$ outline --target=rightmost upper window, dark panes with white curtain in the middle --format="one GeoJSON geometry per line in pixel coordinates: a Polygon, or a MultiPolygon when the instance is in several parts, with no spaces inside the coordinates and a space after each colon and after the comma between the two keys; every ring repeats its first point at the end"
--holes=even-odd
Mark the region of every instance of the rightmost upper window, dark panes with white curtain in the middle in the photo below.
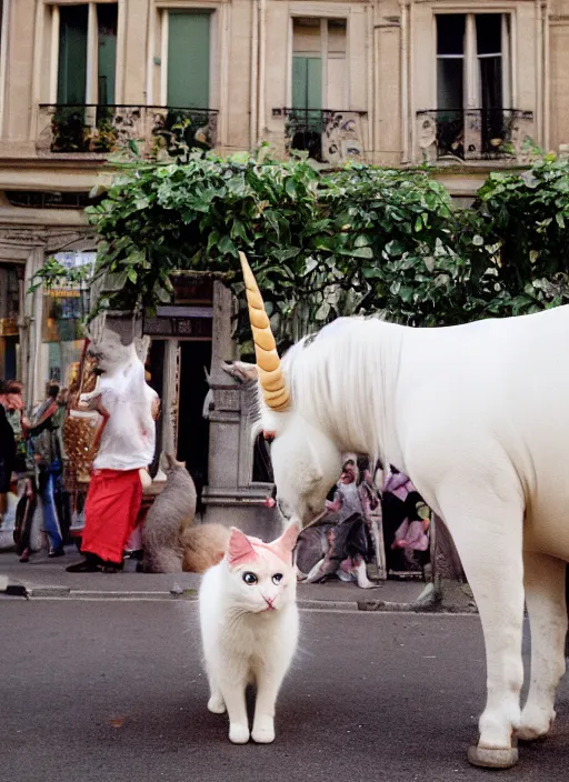
{"type": "Polygon", "coordinates": [[[438,147],[458,157],[498,151],[508,136],[510,16],[437,14],[438,147]]]}

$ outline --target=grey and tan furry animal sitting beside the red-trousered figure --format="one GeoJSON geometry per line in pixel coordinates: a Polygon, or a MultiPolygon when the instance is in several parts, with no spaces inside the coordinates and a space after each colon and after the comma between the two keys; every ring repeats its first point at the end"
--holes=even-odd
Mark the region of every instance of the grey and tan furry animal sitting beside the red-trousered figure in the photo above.
{"type": "Polygon", "coordinates": [[[166,487],[156,498],[142,528],[144,561],[152,573],[203,573],[227,551],[229,530],[222,524],[193,525],[196,487],[183,462],[164,454],[166,487]]]}

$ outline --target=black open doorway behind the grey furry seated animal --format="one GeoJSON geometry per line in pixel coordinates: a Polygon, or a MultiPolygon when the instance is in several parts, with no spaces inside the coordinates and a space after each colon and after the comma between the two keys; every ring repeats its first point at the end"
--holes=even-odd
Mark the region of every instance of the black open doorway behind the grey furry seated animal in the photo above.
{"type": "Polygon", "coordinates": [[[180,342],[177,458],[193,478],[198,502],[208,482],[209,421],[203,402],[209,391],[204,368],[210,367],[210,340],[180,342]]]}

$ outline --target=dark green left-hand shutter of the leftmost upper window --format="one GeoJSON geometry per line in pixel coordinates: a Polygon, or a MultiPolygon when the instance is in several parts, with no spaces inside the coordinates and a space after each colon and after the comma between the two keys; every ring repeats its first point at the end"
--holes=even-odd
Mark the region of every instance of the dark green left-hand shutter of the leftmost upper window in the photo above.
{"type": "Polygon", "coordinates": [[[83,104],[87,88],[87,24],[89,8],[61,6],[59,28],[58,103],[83,104]]]}

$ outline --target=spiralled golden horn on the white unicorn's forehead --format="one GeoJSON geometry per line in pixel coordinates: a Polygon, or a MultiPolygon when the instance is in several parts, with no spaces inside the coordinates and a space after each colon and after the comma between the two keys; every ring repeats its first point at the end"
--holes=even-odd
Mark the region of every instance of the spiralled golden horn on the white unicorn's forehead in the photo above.
{"type": "Polygon", "coordinates": [[[269,317],[264,311],[259,287],[243,252],[239,253],[239,260],[243,270],[249,320],[253,332],[254,355],[262,394],[267,407],[277,412],[282,412],[289,407],[290,392],[282,374],[277,343],[272,335],[269,317]]]}

